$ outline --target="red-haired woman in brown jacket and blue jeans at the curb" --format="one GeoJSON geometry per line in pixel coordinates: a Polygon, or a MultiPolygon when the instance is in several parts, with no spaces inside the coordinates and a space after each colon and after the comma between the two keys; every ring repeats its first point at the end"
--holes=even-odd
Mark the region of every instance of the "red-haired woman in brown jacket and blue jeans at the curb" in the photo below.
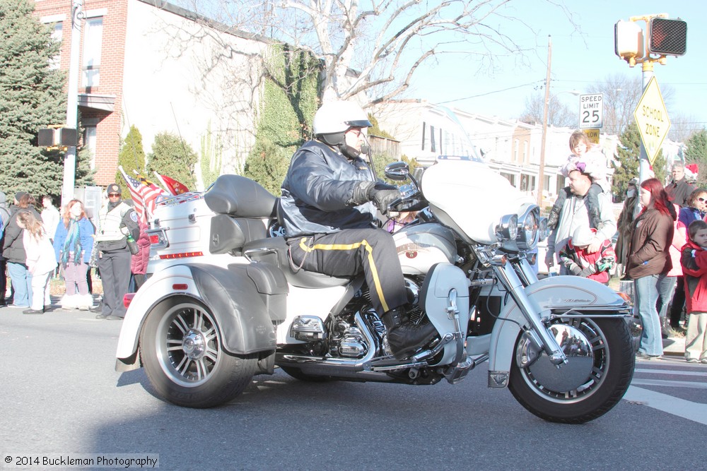
{"type": "Polygon", "coordinates": [[[677,213],[658,179],[643,181],[639,198],[643,210],[631,228],[626,273],[633,278],[638,316],[643,324],[636,357],[652,359],[662,355],[660,319],[655,304],[660,284],[672,268],[669,250],[677,213]]]}

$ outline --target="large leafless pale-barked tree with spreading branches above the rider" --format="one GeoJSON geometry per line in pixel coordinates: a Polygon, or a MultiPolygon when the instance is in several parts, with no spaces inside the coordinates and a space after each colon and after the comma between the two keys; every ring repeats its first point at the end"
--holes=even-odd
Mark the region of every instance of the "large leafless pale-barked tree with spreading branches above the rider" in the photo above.
{"type": "MultiPolygon", "coordinates": [[[[388,100],[409,88],[421,64],[444,54],[492,65],[498,56],[523,57],[533,49],[520,47],[506,33],[532,32],[513,16],[512,0],[183,0],[182,4],[189,2],[189,8],[223,24],[320,57],[325,100],[363,92],[368,105],[388,100]],[[506,23],[503,30],[501,23],[506,23]]],[[[561,1],[547,3],[561,8],[571,20],[561,1]]]]}

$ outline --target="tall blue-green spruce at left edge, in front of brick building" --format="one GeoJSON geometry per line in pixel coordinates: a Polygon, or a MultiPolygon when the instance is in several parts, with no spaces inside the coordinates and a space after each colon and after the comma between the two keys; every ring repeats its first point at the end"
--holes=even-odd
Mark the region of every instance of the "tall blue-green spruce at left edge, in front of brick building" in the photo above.
{"type": "Polygon", "coordinates": [[[49,68],[59,52],[27,0],[0,0],[0,174],[2,190],[33,196],[62,192],[62,153],[37,147],[37,131],[66,120],[64,74],[49,68]]]}

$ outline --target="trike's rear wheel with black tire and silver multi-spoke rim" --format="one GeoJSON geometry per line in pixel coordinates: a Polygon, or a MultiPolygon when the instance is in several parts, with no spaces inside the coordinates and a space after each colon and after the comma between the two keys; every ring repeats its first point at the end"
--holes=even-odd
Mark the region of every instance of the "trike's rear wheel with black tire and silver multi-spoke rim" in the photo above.
{"type": "Polygon", "coordinates": [[[140,356],[158,395],[183,407],[227,403],[247,388],[257,366],[257,354],[223,350],[216,317],[188,297],[167,299],[148,314],[140,356]]]}

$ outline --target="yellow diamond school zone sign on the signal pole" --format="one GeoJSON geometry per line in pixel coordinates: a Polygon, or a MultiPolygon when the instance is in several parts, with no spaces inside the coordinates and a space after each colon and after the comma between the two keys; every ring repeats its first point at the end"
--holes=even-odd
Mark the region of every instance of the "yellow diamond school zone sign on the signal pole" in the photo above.
{"type": "Polygon", "coordinates": [[[638,132],[641,133],[648,162],[653,165],[660,151],[660,145],[670,129],[670,119],[667,117],[667,109],[655,77],[650,78],[648,86],[643,90],[641,100],[638,101],[636,111],[633,112],[633,118],[638,124],[638,132]]]}

